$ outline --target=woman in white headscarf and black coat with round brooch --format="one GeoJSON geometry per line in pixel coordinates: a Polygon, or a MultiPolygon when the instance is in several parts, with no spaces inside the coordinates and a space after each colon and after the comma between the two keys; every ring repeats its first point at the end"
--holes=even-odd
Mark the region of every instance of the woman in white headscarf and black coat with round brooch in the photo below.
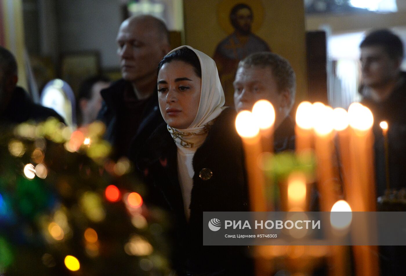
{"type": "Polygon", "coordinates": [[[203,211],[248,211],[236,114],[223,106],[215,62],[190,46],[172,50],[158,66],[158,100],[166,124],[139,163],[150,199],[174,216],[177,273],[251,275],[244,248],[203,246],[203,211]]]}

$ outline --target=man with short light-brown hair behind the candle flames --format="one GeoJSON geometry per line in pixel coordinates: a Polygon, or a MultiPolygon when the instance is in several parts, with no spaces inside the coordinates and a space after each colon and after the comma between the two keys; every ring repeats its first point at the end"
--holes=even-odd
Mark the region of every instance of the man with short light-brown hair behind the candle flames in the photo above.
{"type": "Polygon", "coordinates": [[[238,64],[233,85],[237,112],[251,111],[261,99],[272,103],[274,151],[294,150],[295,124],[289,113],[295,101],[296,75],[289,62],[271,52],[251,54],[238,64]]]}

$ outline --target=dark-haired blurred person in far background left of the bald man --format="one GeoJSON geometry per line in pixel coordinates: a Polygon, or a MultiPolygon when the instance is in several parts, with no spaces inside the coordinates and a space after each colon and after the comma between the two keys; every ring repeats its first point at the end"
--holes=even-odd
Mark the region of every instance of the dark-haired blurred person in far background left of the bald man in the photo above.
{"type": "Polygon", "coordinates": [[[87,78],[80,85],[78,107],[82,117],[81,125],[87,125],[96,120],[103,101],[100,91],[109,86],[110,80],[104,76],[87,78]]]}

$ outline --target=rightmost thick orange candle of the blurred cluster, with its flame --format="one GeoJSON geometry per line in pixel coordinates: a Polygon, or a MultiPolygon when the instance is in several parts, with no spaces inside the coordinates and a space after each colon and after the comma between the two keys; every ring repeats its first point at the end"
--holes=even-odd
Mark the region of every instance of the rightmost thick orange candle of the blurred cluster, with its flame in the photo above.
{"type": "MultiPolygon", "coordinates": [[[[346,196],[353,211],[376,211],[376,194],[373,164],[371,111],[360,103],[352,103],[348,108],[350,123],[350,185],[346,196]]],[[[358,229],[365,235],[376,238],[376,229],[358,229]]],[[[354,235],[354,234],[353,234],[354,235]]],[[[355,272],[357,276],[379,274],[378,248],[376,246],[353,246],[355,272]]]]}

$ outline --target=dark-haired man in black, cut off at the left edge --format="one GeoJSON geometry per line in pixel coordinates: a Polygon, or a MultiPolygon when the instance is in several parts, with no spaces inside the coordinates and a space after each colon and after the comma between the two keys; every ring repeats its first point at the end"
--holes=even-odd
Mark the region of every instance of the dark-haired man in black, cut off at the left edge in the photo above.
{"type": "Polygon", "coordinates": [[[28,120],[41,122],[55,117],[64,122],[53,109],[35,104],[22,87],[17,86],[17,62],[13,54],[0,46],[0,122],[19,124],[28,120]]]}

